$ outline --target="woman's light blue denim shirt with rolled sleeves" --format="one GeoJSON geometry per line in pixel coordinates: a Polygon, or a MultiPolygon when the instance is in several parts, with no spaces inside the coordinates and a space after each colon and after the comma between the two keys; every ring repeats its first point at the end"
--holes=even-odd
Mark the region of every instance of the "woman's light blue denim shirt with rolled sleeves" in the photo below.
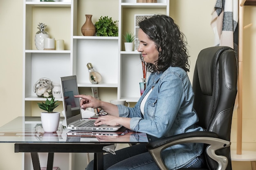
{"type": "MultiPolygon", "coordinates": [[[[198,116],[193,109],[194,93],[187,73],[180,67],[169,67],[160,73],[151,73],[148,85],[134,108],[117,105],[120,117],[130,117],[130,128],[156,138],[202,131],[196,126],[198,116]],[[140,104],[153,88],[141,114],[140,104]]],[[[198,157],[203,144],[178,144],[166,148],[162,157],[169,169],[182,168],[198,157]]]]}

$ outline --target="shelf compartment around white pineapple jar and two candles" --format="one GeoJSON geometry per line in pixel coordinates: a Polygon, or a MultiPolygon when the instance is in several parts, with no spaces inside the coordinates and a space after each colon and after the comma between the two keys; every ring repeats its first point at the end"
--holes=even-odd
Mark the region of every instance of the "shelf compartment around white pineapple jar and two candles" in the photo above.
{"type": "Polygon", "coordinates": [[[71,13],[71,7],[66,7],[66,6],[42,7],[42,6],[26,5],[26,18],[25,18],[25,28],[24,28],[25,50],[38,51],[35,46],[34,38],[36,33],[39,31],[39,29],[37,29],[38,23],[43,22],[47,25],[45,31],[49,33],[50,38],[55,38],[55,40],[64,40],[65,42],[64,51],[70,51],[71,49],[70,31],[72,29],[72,26],[70,25],[63,26],[62,24],[58,24],[58,23],[65,23],[66,20],[70,20],[71,18],[70,13],[71,13]],[[44,13],[44,15],[41,15],[42,13],[44,13]],[[56,22],[56,20],[49,20],[49,18],[56,18],[58,22],[56,22]]]}

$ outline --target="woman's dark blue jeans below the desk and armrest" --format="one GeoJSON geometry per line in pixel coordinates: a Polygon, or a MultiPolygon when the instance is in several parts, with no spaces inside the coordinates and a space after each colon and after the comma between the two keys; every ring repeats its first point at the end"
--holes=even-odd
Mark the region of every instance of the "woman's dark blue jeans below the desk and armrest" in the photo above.
{"type": "MultiPolygon", "coordinates": [[[[104,170],[159,170],[157,164],[146,149],[146,144],[138,144],[115,151],[116,155],[108,153],[103,156],[104,170]]],[[[203,160],[195,158],[183,168],[201,168],[203,160]]],[[[91,161],[86,170],[93,170],[91,161]]]]}

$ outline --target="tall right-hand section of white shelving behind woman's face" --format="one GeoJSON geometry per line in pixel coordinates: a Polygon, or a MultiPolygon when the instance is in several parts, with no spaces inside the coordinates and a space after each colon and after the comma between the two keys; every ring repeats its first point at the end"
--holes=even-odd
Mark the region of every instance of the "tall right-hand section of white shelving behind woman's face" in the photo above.
{"type": "MultiPolygon", "coordinates": [[[[139,52],[124,51],[123,35],[126,31],[135,29],[134,16],[138,14],[165,14],[169,15],[169,0],[157,0],[157,3],[136,3],[136,0],[119,0],[119,41],[118,41],[118,99],[126,99],[127,102],[137,102],[139,82],[143,78],[139,52]],[[132,19],[132,24],[128,21],[132,19]],[[120,29],[121,28],[121,29],[120,29]]],[[[149,74],[148,74],[149,75],[149,74]]]]}

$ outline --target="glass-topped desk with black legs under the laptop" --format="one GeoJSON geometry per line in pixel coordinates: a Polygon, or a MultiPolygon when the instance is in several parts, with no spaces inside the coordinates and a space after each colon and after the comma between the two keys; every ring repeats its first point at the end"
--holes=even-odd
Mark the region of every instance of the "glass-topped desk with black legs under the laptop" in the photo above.
{"type": "Polygon", "coordinates": [[[74,134],[60,124],[55,133],[46,133],[40,117],[17,117],[0,127],[0,142],[15,143],[15,152],[30,152],[34,170],[40,170],[38,152],[47,152],[47,170],[52,170],[54,152],[94,153],[94,170],[103,169],[103,153],[114,152],[114,144],[148,143],[145,133],[121,128],[116,132],[74,134]]]}

